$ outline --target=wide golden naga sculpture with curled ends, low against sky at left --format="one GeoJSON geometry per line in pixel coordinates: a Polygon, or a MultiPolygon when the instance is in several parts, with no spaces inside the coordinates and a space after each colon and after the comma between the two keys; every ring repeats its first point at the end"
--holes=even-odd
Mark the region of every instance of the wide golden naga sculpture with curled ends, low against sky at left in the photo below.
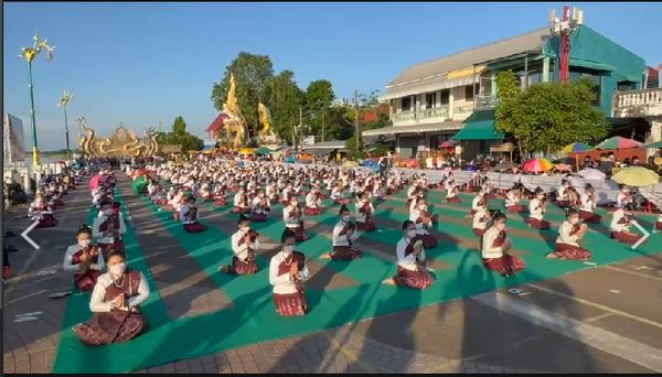
{"type": "Polygon", "coordinates": [[[94,129],[83,126],[87,136],[81,138],[81,149],[87,155],[108,157],[150,157],[159,150],[157,132],[149,128],[142,138],[119,126],[109,138],[98,138],[94,129]]]}

